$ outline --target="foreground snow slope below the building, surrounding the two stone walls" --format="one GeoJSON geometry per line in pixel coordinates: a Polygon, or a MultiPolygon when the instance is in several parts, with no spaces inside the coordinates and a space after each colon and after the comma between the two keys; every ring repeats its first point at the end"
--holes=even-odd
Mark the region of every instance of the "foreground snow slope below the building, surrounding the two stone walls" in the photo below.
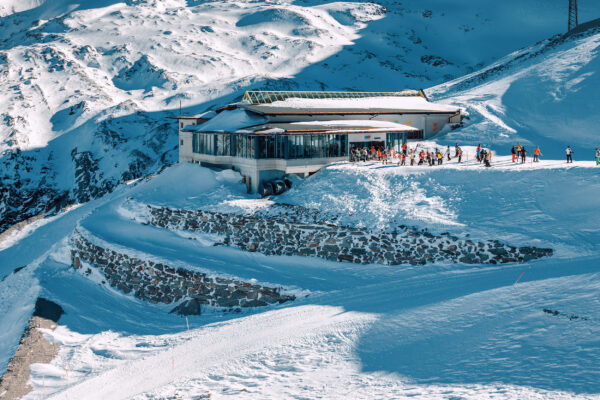
{"type": "Polygon", "coordinates": [[[13,327],[3,360],[38,295],[66,312],[46,333],[59,355],[32,366],[26,399],[598,398],[600,178],[592,163],[340,163],[271,200],[246,195],[238,178],[176,165],[11,238],[2,265],[28,267],[0,283],[1,323],[13,327]],[[419,267],[264,256],[139,224],[122,207],[128,200],[227,211],[277,201],[345,210],[346,224],[402,221],[555,255],[419,267]],[[60,238],[76,227],[131,253],[276,282],[300,296],[186,321],[72,269],[60,238]]]}

